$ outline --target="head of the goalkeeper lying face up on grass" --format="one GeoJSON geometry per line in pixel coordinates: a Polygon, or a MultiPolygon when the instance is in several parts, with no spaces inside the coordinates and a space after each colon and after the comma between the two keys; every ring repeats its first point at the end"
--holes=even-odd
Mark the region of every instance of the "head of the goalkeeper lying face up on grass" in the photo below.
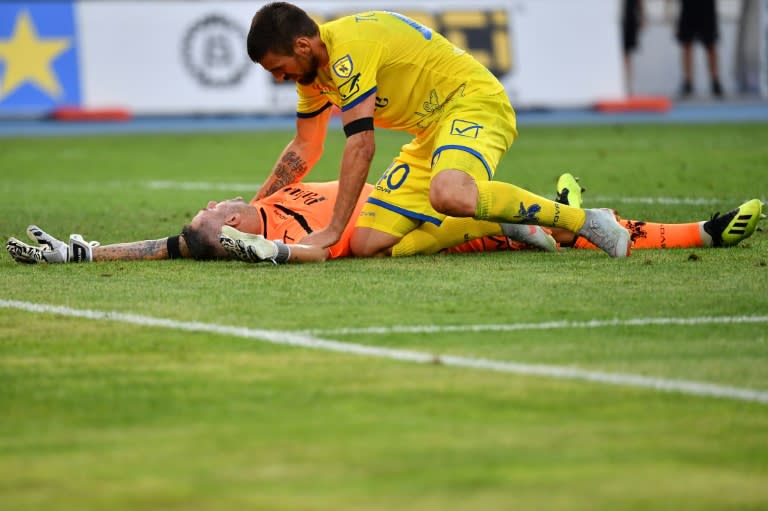
{"type": "Polygon", "coordinates": [[[256,208],[245,202],[242,197],[220,202],[210,201],[181,231],[192,258],[229,259],[219,242],[219,233],[225,225],[252,234],[261,234],[261,221],[256,208]]]}

